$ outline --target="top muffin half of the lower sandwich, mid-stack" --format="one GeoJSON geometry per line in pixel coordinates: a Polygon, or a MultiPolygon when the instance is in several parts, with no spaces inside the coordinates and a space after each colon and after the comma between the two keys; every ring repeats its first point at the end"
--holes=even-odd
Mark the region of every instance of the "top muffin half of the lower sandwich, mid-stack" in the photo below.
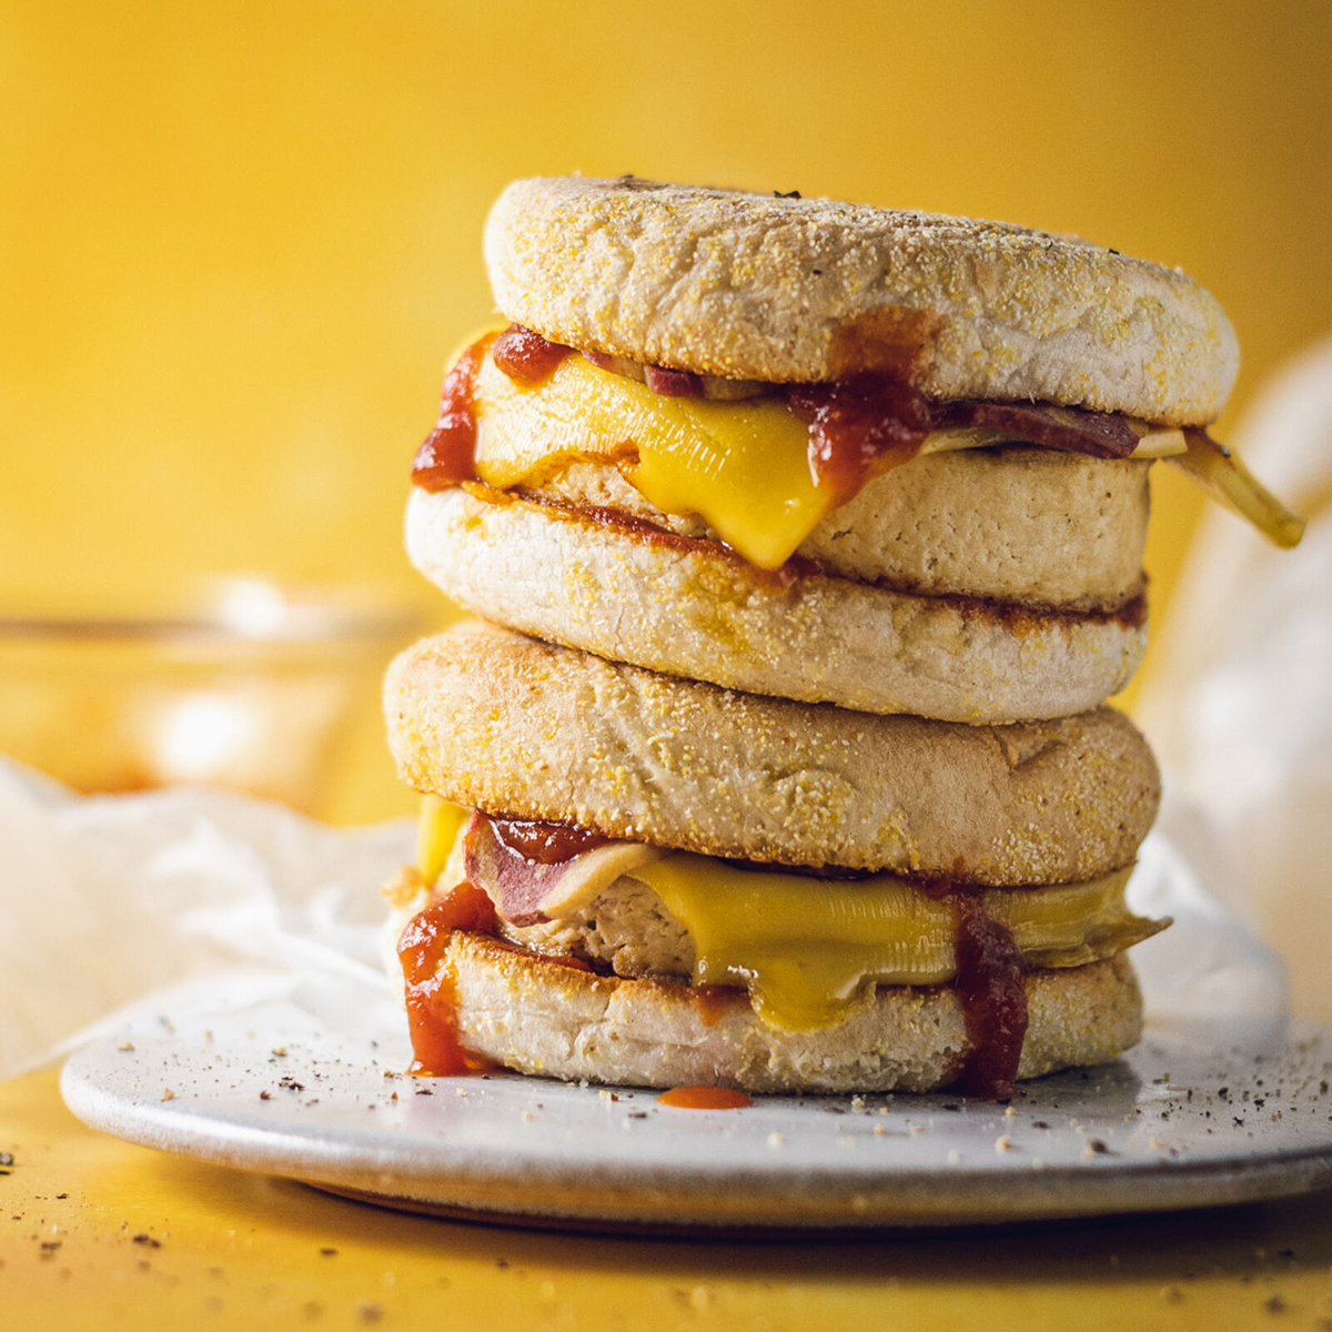
{"type": "Polygon", "coordinates": [[[404,781],[492,814],[755,862],[1070,883],[1128,864],[1155,762],[1110,709],[964,726],[675,679],[489,626],[385,681],[404,781]]]}

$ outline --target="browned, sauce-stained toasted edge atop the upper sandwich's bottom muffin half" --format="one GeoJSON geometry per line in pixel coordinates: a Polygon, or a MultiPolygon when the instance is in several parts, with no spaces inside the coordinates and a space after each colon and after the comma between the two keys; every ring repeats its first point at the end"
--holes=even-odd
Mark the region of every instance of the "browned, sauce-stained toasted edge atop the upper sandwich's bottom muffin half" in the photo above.
{"type": "Polygon", "coordinates": [[[1114,609],[1070,610],[1066,606],[1050,606],[1040,602],[998,601],[991,597],[972,597],[966,593],[924,593],[903,586],[887,578],[863,579],[847,578],[844,574],[830,573],[818,561],[807,555],[793,555],[779,569],[759,569],[743,555],[733,550],[725,541],[707,537],[686,537],[683,533],[659,527],[641,514],[627,513],[605,505],[585,505],[575,501],[557,501],[547,494],[534,494],[525,489],[497,490],[481,481],[465,481],[462,489],[480,503],[537,505],[551,518],[565,522],[587,522],[598,527],[609,527],[623,535],[685,554],[721,557],[735,567],[745,569],[755,582],[771,589],[787,589],[803,578],[830,578],[852,582],[862,587],[876,587],[882,591],[898,593],[906,597],[919,597],[936,606],[950,606],[963,619],[980,619],[1002,625],[1014,637],[1023,638],[1040,633],[1052,623],[1058,625],[1119,625],[1122,629],[1142,629],[1147,623],[1147,594],[1138,591],[1128,601],[1114,609]]]}

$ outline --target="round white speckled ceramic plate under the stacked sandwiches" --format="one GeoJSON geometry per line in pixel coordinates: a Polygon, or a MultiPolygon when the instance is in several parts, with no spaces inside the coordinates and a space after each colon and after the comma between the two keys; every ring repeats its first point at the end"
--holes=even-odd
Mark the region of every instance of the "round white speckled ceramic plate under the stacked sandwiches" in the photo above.
{"type": "Polygon", "coordinates": [[[416,1079],[401,1035],[290,1003],[104,1039],[64,1096],[131,1142],[396,1207],[583,1228],[938,1227],[1148,1212],[1332,1187],[1332,1034],[1265,1050],[1151,1032],[1128,1058],[955,1096],[674,1110],[643,1090],[416,1079]]]}

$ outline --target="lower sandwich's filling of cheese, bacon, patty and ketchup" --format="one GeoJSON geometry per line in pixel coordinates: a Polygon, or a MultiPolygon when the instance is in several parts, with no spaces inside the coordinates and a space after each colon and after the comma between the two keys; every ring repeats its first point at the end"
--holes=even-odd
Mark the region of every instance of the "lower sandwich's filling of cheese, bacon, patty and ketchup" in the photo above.
{"type": "MultiPolygon", "coordinates": [[[[984,1052],[972,1090],[994,1094],[1020,1058],[1030,970],[1100,962],[1164,927],[1127,908],[1128,874],[1016,890],[775,874],[429,801],[396,904],[400,920],[462,906],[473,932],[601,974],[743,991],[777,1031],[844,1023],[880,986],[952,986],[984,1052]]],[[[433,1048],[428,1018],[417,1027],[433,1048]]]]}

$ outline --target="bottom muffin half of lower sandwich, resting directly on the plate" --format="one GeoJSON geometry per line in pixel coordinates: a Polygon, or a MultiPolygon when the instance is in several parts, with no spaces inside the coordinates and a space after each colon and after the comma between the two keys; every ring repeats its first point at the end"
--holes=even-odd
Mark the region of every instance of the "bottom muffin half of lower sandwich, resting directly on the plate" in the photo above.
{"type": "MultiPolygon", "coordinates": [[[[947,987],[883,986],[835,1027],[765,1026],[743,991],[706,998],[673,980],[574,970],[457,931],[457,1035],[472,1052],[526,1074],[638,1087],[710,1083],[753,1092],[938,1091],[962,1074],[970,1039],[947,987]]],[[[1138,982],[1120,955],[1027,976],[1019,1078],[1116,1059],[1142,1034],[1138,982]]]]}

